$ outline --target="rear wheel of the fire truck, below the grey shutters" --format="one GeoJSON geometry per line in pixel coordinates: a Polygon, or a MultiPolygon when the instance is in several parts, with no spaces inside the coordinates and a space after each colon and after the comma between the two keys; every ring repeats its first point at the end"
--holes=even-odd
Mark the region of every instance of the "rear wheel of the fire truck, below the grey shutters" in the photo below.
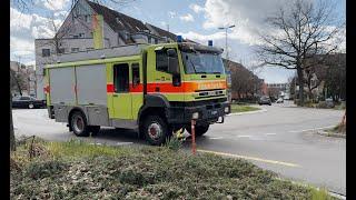
{"type": "Polygon", "coordinates": [[[91,131],[86,117],[80,111],[75,111],[71,114],[69,124],[77,137],[88,137],[91,131]]]}

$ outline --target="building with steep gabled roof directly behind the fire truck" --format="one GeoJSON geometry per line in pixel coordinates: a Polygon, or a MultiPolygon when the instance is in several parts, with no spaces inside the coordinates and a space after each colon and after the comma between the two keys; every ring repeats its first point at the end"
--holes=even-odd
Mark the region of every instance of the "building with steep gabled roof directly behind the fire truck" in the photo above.
{"type": "Polygon", "coordinates": [[[36,39],[37,96],[44,99],[43,66],[53,54],[93,49],[92,16],[102,16],[103,48],[129,43],[164,43],[177,36],[88,0],[78,0],[52,39],[36,39]]]}

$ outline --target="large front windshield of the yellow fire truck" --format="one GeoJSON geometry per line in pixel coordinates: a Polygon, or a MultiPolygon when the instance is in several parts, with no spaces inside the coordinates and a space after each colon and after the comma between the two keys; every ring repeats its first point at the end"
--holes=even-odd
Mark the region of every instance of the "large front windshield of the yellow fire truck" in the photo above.
{"type": "Polygon", "coordinates": [[[181,52],[186,73],[225,73],[220,54],[181,52]]]}

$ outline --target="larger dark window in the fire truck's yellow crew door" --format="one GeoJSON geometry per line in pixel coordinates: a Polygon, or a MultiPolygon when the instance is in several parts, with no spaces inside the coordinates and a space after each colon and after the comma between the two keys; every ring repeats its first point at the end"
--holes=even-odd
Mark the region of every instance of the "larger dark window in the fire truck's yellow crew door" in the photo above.
{"type": "Polygon", "coordinates": [[[116,93],[129,91],[129,64],[113,66],[113,86],[116,93]]]}

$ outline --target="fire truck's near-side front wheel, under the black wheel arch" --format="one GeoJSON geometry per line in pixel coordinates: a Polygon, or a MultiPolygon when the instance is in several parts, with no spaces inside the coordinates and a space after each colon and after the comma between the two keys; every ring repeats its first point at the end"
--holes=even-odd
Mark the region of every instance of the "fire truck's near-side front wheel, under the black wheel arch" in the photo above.
{"type": "Polygon", "coordinates": [[[167,122],[159,116],[147,116],[140,130],[146,141],[152,146],[165,143],[170,134],[167,122]]]}

